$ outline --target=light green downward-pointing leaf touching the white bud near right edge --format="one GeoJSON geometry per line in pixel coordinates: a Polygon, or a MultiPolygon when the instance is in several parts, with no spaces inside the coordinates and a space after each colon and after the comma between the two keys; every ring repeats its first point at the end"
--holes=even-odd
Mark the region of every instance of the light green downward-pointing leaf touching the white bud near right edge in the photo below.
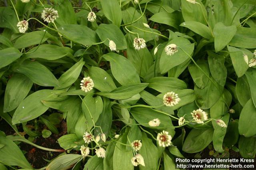
{"type": "Polygon", "coordinates": [[[249,67],[244,61],[244,53],[235,47],[228,47],[228,51],[230,52],[230,58],[236,71],[236,75],[241,77],[249,67]]]}

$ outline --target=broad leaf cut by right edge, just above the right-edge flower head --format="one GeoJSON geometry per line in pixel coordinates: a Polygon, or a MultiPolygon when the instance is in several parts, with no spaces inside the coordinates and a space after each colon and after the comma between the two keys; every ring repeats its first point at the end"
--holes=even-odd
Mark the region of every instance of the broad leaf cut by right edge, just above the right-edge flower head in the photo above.
{"type": "Polygon", "coordinates": [[[230,41],[229,45],[234,47],[255,49],[256,44],[256,30],[255,28],[237,27],[236,34],[230,41]]]}

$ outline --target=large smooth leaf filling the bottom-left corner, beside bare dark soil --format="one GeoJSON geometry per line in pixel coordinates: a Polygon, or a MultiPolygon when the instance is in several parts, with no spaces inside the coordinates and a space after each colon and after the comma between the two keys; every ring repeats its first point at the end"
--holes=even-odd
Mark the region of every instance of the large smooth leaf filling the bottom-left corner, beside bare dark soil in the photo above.
{"type": "Polygon", "coordinates": [[[0,143],[4,145],[0,149],[0,160],[9,166],[20,166],[22,168],[32,168],[28,163],[20,148],[10,139],[0,136],[0,143]]]}

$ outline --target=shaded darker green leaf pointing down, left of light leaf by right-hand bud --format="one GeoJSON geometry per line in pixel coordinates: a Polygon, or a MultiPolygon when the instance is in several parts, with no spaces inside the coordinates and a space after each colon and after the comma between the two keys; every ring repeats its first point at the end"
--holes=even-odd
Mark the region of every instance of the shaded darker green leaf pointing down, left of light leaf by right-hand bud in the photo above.
{"type": "Polygon", "coordinates": [[[224,65],[225,58],[211,51],[208,51],[207,53],[212,77],[218,84],[220,84],[220,86],[224,86],[226,84],[227,77],[227,68],[224,65]]]}

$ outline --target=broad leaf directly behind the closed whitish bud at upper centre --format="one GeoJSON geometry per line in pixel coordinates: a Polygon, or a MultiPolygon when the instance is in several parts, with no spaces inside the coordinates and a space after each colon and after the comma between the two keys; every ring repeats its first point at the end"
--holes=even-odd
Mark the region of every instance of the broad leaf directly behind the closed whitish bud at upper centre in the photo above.
{"type": "Polygon", "coordinates": [[[112,40],[116,44],[116,49],[122,50],[127,48],[126,39],[122,31],[114,24],[100,24],[96,29],[96,33],[101,41],[109,47],[109,41],[112,40]]]}

